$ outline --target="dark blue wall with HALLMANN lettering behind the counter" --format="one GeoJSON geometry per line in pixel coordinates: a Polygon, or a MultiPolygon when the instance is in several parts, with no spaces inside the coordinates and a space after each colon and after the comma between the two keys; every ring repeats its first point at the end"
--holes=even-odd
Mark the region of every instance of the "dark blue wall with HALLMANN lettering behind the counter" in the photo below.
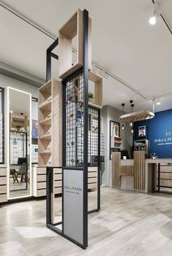
{"type": "Polygon", "coordinates": [[[156,112],[155,117],[134,123],[134,140],[138,137],[138,127],[146,126],[149,139],[149,152],[155,152],[158,158],[172,158],[172,109],[156,112]]]}

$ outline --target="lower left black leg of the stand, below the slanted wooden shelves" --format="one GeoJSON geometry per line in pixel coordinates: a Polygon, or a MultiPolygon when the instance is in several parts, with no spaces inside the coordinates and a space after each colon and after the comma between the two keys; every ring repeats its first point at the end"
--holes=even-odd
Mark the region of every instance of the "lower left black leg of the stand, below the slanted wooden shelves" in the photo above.
{"type": "Polygon", "coordinates": [[[51,224],[52,168],[47,167],[47,225],[51,224]]]}

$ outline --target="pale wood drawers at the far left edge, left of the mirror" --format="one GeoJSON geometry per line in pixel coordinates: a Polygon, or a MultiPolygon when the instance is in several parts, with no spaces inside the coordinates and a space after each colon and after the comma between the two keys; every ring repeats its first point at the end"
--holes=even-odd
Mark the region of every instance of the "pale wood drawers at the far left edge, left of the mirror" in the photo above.
{"type": "Polygon", "coordinates": [[[0,203],[7,202],[7,168],[0,166],[0,203]]]}

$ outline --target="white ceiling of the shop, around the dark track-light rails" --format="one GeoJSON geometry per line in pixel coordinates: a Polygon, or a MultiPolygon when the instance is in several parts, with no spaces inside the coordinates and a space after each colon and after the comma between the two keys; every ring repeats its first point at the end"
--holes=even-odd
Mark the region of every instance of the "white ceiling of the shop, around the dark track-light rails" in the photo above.
{"type": "MultiPolygon", "coordinates": [[[[4,0],[51,34],[77,8],[87,9],[93,20],[93,61],[116,74],[146,98],[172,93],[172,35],[160,18],[149,25],[152,0],[4,0]]],[[[159,1],[172,26],[172,1],[159,1]]],[[[6,9],[0,7],[1,61],[45,78],[46,49],[53,42],[6,9]]],[[[53,61],[52,77],[58,77],[53,61]]],[[[172,96],[172,95],[171,95],[172,96]]],[[[171,96],[162,99],[156,110],[172,108],[171,96]]],[[[103,79],[103,105],[120,107],[122,102],[135,101],[135,109],[152,110],[152,101],[133,93],[115,79],[103,79]]],[[[129,110],[129,104],[128,109],[129,110]]]]}

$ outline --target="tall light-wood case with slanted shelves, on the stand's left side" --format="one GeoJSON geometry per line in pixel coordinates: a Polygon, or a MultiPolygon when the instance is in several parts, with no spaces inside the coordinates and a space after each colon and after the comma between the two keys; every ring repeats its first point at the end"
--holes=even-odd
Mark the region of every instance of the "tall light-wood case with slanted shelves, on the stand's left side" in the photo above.
{"type": "Polygon", "coordinates": [[[39,88],[39,166],[61,166],[62,85],[51,79],[39,88]]]}

